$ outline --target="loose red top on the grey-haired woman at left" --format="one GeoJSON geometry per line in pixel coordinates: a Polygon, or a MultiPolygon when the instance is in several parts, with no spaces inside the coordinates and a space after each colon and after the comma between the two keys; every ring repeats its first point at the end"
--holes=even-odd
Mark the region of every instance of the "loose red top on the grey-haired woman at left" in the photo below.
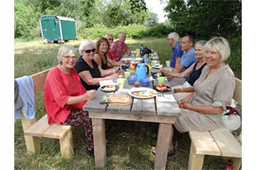
{"type": "Polygon", "coordinates": [[[71,109],[82,110],[87,100],[72,105],[65,103],[70,96],[78,96],[85,92],[80,76],[74,68],[71,69],[71,75],[65,74],[58,67],[51,69],[46,77],[44,92],[48,124],[64,123],[71,109]]]}

